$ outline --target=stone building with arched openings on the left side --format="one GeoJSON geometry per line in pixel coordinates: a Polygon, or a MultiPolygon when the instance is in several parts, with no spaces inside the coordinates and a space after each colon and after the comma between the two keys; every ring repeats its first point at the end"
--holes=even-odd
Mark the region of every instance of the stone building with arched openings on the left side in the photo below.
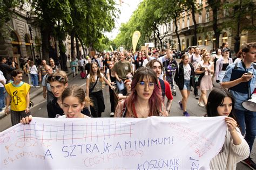
{"type": "Polygon", "coordinates": [[[5,23],[5,31],[0,37],[0,55],[13,59],[20,67],[21,56],[35,59],[38,55],[42,58],[41,31],[38,26],[33,25],[33,17],[27,16],[27,12],[31,11],[29,4],[23,5],[22,10],[13,10],[14,14],[11,20],[5,23]]]}

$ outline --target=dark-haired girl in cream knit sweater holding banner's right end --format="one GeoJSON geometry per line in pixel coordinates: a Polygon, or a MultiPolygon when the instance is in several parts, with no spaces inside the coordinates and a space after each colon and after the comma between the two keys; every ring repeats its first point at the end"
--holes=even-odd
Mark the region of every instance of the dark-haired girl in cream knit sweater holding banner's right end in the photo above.
{"type": "Polygon", "coordinates": [[[236,169],[237,163],[248,158],[250,148],[241,135],[241,131],[233,115],[234,98],[223,88],[213,89],[206,105],[208,117],[226,116],[227,132],[221,151],[211,160],[211,169],[236,169]]]}

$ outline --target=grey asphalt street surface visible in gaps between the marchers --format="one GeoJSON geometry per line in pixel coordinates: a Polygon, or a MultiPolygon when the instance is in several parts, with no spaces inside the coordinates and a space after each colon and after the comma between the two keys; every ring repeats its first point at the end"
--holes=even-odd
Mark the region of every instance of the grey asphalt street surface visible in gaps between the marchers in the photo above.
{"type": "MultiPolygon", "coordinates": [[[[81,86],[84,90],[86,88],[86,80],[85,79],[80,79],[80,76],[77,76],[75,78],[72,77],[72,75],[69,76],[69,86],[73,84],[77,84],[78,86],[81,86]]],[[[218,86],[215,84],[215,86],[218,86]]],[[[32,93],[35,93],[39,90],[42,90],[41,88],[33,88],[31,91],[32,93]],[[36,90],[36,91],[35,91],[36,90]]],[[[170,111],[169,116],[183,116],[183,111],[179,108],[178,101],[181,100],[181,94],[179,92],[178,87],[176,87],[176,92],[177,96],[173,96],[173,102],[172,102],[172,107],[170,111]]],[[[109,100],[109,88],[107,86],[104,87],[103,89],[103,95],[104,95],[104,101],[105,101],[105,112],[102,113],[102,117],[110,117],[110,100],[109,100]]],[[[35,117],[48,117],[47,114],[47,109],[46,109],[46,100],[43,98],[43,93],[39,94],[35,98],[32,99],[32,102],[34,103],[34,107],[31,108],[32,115],[35,117]]],[[[188,100],[188,105],[187,105],[187,111],[191,116],[204,116],[206,114],[206,109],[201,108],[197,104],[198,100],[194,98],[194,94],[191,91],[191,95],[188,100]]],[[[165,101],[166,104],[166,101],[165,101]]],[[[0,125],[0,131],[3,131],[5,129],[8,129],[11,127],[11,120],[10,120],[10,115],[0,119],[1,125],[0,125]]],[[[200,127],[198,127],[200,128],[200,127]]],[[[251,154],[251,157],[255,160],[256,159],[256,144],[254,142],[254,147],[253,151],[251,154]]],[[[237,169],[250,169],[247,166],[245,166],[242,163],[239,163],[237,166],[237,169]]]]}

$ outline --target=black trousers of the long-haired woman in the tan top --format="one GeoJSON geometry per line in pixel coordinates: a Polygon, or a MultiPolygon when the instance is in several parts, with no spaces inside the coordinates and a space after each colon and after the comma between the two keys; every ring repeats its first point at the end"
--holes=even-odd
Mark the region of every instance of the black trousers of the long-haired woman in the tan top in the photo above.
{"type": "Polygon", "coordinates": [[[105,111],[105,103],[102,90],[90,93],[89,97],[93,102],[93,107],[90,107],[91,115],[93,117],[102,117],[102,112],[105,111]]]}

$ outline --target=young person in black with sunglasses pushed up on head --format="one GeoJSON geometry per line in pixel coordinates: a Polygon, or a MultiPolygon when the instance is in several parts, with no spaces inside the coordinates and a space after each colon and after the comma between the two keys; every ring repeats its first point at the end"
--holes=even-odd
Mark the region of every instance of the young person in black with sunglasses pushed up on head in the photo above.
{"type": "MultiPolygon", "coordinates": [[[[64,115],[62,94],[69,85],[69,78],[65,72],[59,70],[48,76],[47,81],[50,83],[51,91],[54,95],[53,100],[47,104],[48,117],[55,118],[56,115],[62,116],[64,115]]],[[[87,108],[84,108],[82,113],[90,116],[87,108]]]]}

